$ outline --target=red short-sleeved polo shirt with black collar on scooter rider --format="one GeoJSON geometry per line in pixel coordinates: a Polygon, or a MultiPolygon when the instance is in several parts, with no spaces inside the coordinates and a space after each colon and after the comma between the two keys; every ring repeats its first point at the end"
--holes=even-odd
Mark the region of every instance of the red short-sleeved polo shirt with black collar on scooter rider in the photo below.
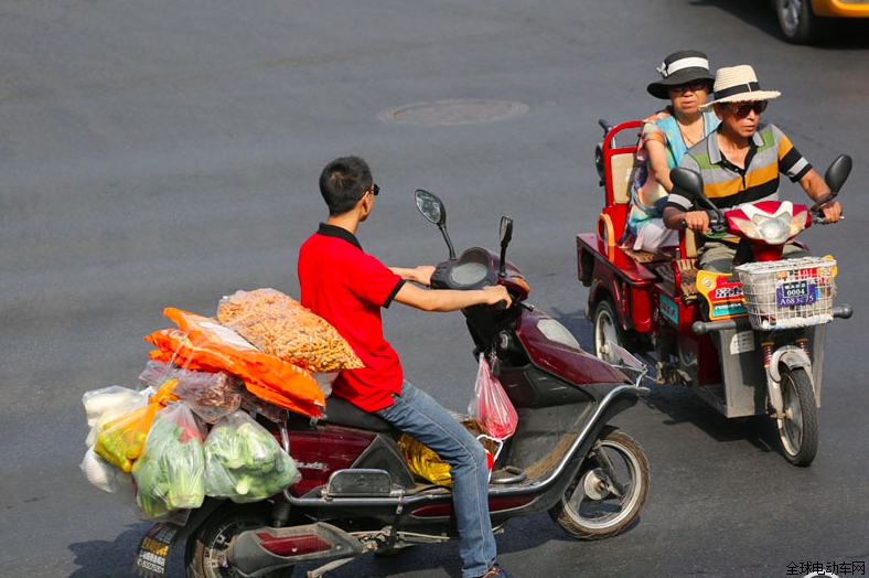
{"type": "Polygon", "coordinates": [[[341,372],[332,393],[366,411],[393,405],[393,394],[401,393],[404,372],[384,339],[380,308],[389,307],[404,282],[334,225],[321,224],[299,249],[301,303],[329,321],[365,364],[341,372]]]}

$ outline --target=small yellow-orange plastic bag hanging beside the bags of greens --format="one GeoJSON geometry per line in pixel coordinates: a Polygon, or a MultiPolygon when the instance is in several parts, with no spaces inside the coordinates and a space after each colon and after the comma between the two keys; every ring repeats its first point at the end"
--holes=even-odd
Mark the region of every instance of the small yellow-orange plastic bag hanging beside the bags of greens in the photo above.
{"type": "Polygon", "coordinates": [[[94,451],[129,473],[133,460],[142,452],[154,416],[169,402],[178,399],[178,396],[172,395],[175,383],[178,383],[175,379],[168,381],[151,396],[147,406],[133,409],[106,424],[97,436],[94,451]]]}

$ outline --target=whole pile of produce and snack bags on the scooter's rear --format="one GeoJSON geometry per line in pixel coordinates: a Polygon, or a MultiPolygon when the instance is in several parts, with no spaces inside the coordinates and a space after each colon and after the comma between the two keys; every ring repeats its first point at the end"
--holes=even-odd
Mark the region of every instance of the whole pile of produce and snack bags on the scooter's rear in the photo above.
{"type": "Polygon", "coordinates": [[[119,494],[135,488],[152,518],[199,507],[206,495],[255,502],[294,483],[292,458],[248,411],[320,417],[330,379],[362,367],[346,341],[273,289],[222,299],[216,319],[164,314],[178,328],[144,338],[157,347],[139,375],[144,389],[83,397],[88,481],[119,494]]]}

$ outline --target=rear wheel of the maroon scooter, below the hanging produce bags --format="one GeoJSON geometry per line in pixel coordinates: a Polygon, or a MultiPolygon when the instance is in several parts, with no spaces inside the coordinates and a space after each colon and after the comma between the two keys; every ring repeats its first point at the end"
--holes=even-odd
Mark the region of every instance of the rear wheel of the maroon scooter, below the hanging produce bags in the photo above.
{"type": "MultiPolygon", "coordinates": [[[[187,538],[184,548],[184,568],[187,578],[240,578],[227,567],[225,552],[233,536],[240,532],[271,525],[271,506],[267,503],[233,504],[214,513],[187,538]]],[[[292,567],[281,568],[262,578],[290,578],[292,567]]]]}

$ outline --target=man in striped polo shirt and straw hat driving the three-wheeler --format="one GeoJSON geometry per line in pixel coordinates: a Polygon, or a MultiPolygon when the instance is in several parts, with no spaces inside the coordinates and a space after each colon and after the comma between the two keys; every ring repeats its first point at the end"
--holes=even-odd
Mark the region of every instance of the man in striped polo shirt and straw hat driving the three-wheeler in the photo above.
{"type": "MultiPolygon", "coordinates": [[[[683,157],[680,167],[702,176],[704,193],[719,208],[779,199],[779,174],[798,182],[813,201],[829,193],[829,186],[774,125],[760,121],[761,114],[777,90],[761,90],[754,69],[748,65],[720,68],[716,73],[714,107],[721,124],[683,157]]],[[[677,188],[664,210],[664,224],[709,233],[709,215],[694,210],[694,199],[677,188]]],[[[829,222],[838,221],[838,201],[820,206],[829,222]]],[[[698,268],[731,272],[739,239],[705,236],[698,251],[698,268]]],[[[785,257],[798,256],[800,247],[788,243],[785,257]]]]}

